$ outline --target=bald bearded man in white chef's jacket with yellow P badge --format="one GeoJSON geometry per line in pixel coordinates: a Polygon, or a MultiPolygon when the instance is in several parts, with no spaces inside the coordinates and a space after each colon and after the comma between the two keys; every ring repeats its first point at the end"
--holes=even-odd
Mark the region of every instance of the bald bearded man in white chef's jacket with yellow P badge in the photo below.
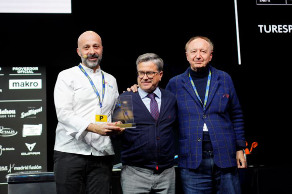
{"type": "Polygon", "coordinates": [[[82,63],[60,72],[54,89],[59,123],[54,146],[57,193],[109,193],[113,147],[110,135],[125,129],[111,123],[119,96],[115,78],[102,71],[102,43],[87,31],[78,38],[82,63]]]}

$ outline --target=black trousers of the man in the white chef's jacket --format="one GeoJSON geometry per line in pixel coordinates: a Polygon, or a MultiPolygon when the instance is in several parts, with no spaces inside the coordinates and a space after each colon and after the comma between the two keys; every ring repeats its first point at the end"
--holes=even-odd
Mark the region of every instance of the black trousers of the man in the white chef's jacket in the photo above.
{"type": "Polygon", "coordinates": [[[110,193],[113,155],[93,156],[54,151],[57,193],[110,193]]]}

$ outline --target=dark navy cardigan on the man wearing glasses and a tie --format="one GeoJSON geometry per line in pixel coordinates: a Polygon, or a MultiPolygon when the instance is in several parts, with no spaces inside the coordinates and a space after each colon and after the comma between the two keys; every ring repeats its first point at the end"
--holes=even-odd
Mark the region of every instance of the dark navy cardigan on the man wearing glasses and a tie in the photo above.
{"type": "MultiPolygon", "coordinates": [[[[173,166],[173,125],[176,121],[176,98],[161,89],[161,106],[157,123],[143,103],[139,92],[124,92],[133,100],[136,128],[126,129],[122,138],[122,163],[142,168],[160,170],[173,166]]],[[[114,138],[114,137],[113,137],[114,138]]]]}

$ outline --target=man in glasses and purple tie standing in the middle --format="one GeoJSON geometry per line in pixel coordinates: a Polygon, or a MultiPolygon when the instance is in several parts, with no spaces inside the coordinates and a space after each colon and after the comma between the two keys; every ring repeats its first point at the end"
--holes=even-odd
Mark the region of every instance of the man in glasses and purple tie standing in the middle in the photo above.
{"type": "Polygon", "coordinates": [[[122,135],[123,193],[175,193],[173,124],[176,98],[158,87],[163,61],[153,53],[137,61],[138,92],[131,95],[136,128],[122,135]]]}

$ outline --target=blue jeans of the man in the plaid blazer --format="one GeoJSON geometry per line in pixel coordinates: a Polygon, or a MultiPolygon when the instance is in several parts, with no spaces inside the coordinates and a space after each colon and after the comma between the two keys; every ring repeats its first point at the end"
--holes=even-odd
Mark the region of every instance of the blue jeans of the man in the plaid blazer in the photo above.
{"type": "Polygon", "coordinates": [[[219,168],[214,164],[213,151],[203,151],[198,168],[181,168],[181,178],[185,194],[241,193],[237,167],[219,168]]]}

